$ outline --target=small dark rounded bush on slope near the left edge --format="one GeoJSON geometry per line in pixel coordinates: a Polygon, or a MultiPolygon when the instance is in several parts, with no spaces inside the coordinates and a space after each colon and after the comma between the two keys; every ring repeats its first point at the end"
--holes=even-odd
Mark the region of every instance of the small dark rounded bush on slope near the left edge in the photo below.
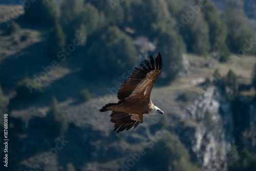
{"type": "Polygon", "coordinates": [[[33,100],[38,97],[42,91],[41,87],[33,85],[34,82],[31,79],[24,79],[23,81],[19,82],[16,89],[16,98],[18,100],[24,101],[33,100]]]}

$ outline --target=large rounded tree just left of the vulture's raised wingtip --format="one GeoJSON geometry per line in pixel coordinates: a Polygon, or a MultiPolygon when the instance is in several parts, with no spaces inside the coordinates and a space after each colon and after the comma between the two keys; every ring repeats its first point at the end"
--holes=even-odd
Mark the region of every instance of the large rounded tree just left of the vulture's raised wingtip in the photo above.
{"type": "Polygon", "coordinates": [[[117,27],[109,27],[97,40],[91,40],[92,44],[87,52],[88,57],[83,72],[86,79],[91,80],[92,76],[115,78],[125,70],[133,69],[136,50],[129,36],[117,27]],[[102,47],[105,47],[104,51],[101,50],[102,47]]]}

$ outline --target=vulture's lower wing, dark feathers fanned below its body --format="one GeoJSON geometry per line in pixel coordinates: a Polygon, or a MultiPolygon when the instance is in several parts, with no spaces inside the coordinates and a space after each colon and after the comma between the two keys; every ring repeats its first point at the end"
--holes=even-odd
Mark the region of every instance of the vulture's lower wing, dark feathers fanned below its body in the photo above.
{"type": "Polygon", "coordinates": [[[118,129],[117,133],[123,130],[130,130],[133,126],[135,129],[140,123],[143,123],[143,114],[113,111],[110,116],[112,123],[115,124],[114,131],[118,129]]]}

